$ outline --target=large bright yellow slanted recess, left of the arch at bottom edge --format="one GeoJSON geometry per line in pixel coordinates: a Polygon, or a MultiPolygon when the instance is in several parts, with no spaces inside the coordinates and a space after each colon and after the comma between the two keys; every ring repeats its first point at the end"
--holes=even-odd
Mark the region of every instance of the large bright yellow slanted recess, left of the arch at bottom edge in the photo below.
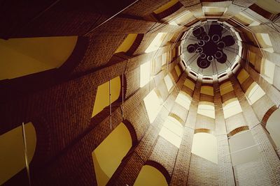
{"type": "Polygon", "coordinates": [[[92,151],[97,185],[106,185],[123,157],[132,147],[130,132],[120,123],[102,143],[92,151]]]}

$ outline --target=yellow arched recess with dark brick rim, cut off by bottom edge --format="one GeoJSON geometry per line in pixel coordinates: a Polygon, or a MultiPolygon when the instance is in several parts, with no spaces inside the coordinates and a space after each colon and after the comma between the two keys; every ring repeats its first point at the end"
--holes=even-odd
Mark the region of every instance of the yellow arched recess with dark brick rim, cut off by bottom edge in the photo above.
{"type": "Polygon", "coordinates": [[[151,185],[167,186],[170,183],[171,176],[167,169],[158,162],[148,160],[137,176],[134,186],[151,185]]]}

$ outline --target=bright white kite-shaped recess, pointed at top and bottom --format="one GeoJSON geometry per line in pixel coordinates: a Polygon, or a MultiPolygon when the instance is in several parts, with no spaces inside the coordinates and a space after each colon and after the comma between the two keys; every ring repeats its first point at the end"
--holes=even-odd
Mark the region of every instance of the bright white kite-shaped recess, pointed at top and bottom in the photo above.
{"type": "Polygon", "coordinates": [[[157,93],[153,90],[144,98],[144,104],[148,113],[149,121],[150,123],[153,123],[162,107],[162,100],[158,98],[157,93]]]}

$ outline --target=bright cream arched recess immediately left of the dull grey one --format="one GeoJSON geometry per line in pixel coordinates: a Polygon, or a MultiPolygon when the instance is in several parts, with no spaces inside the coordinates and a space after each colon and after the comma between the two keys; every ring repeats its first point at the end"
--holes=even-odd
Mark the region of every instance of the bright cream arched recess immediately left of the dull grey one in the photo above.
{"type": "Polygon", "coordinates": [[[194,134],[192,153],[218,164],[217,138],[204,132],[194,134]]]}

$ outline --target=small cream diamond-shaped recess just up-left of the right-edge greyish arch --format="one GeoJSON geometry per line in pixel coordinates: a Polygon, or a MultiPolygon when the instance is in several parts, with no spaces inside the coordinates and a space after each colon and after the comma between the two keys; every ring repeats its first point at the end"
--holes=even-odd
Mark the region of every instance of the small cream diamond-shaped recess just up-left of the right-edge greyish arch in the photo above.
{"type": "Polygon", "coordinates": [[[260,100],[263,95],[265,95],[265,91],[260,88],[260,86],[253,82],[248,88],[248,90],[245,93],[246,98],[250,105],[254,104],[256,101],[260,100]]]}

